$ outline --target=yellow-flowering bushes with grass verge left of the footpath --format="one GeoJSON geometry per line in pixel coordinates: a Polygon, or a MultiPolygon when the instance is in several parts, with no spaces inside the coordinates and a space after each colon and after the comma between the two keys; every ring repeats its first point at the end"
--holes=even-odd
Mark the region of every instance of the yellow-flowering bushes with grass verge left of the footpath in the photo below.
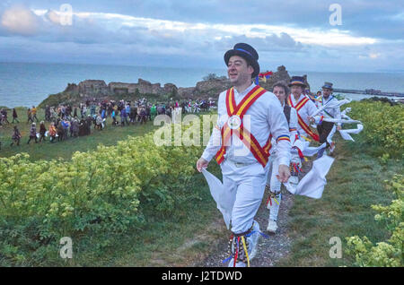
{"type": "Polygon", "coordinates": [[[195,174],[202,149],[157,147],[153,129],[151,123],[109,125],[98,142],[111,146],[90,146],[94,141],[86,140],[98,132],[92,131],[28,146],[31,153],[41,146],[46,160],[27,154],[0,159],[0,264],[178,265],[206,254],[209,237],[220,230],[211,225],[218,213],[195,174]],[[127,136],[123,130],[141,134],[141,128],[143,136],[117,142],[117,134],[127,136]],[[73,151],[80,141],[83,150],[93,150],[73,151]],[[57,145],[66,153],[49,151],[57,145]],[[58,256],[62,237],[73,238],[72,260],[58,256]]]}

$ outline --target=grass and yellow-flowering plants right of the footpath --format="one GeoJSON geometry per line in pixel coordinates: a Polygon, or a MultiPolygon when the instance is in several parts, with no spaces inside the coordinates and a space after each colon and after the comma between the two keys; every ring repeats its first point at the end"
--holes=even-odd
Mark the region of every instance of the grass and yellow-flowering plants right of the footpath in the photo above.
{"type": "Polygon", "coordinates": [[[278,265],[403,264],[402,179],[395,175],[403,169],[404,109],[362,101],[348,107],[349,116],[364,123],[364,131],[355,135],[356,142],[337,141],[336,160],[320,200],[294,198],[288,225],[294,242],[291,254],[278,265]],[[394,191],[386,188],[386,181],[394,181],[387,183],[394,191]],[[374,210],[379,214],[374,216],[374,210]],[[329,257],[332,237],[342,241],[341,259],[329,257]]]}

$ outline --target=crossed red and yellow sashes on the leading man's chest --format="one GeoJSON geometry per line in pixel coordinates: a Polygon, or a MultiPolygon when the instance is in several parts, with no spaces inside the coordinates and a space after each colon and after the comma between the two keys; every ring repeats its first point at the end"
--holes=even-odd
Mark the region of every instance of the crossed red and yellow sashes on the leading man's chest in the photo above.
{"type": "MultiPolygon", "coordinates": [[[[242,117],[244,117],[244,114],[247,112],[250,106],[265,92],[267,92],[265,89],[257,85],[242,99],[239,105],[236,105],[234,99],[234,89],[232,87],[226,92],[227,115],[229,117],[237,115],[242,120],[242,117]]],[[[271,136],[268,137],[268,141],[264,147],[261,147],[255,137],[250,134],[250,132],[245,129],[243,125],[240,125],[238,129],[232,130],[226,122],[221,129],[221,133],[222,147],[219,151],[217,151],[215,156],[217,163],[221,164],[223,162],[224,154],[226,153],[226,146],[229,146],[229,140],[232,134],[236,134],[242,140],[245,146],[247,146],[247,148],[252,152],[262,167],[265,168],[268,163],[269,150],[271,148],[271,136]]]]}

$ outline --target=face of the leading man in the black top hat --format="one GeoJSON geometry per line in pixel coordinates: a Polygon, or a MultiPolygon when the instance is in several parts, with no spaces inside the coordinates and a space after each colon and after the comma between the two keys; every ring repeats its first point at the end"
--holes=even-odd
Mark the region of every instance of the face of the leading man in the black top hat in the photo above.
{"type": "Polygon", "coordinates": [[[227,65],[227,75],[233,85],[240,85],[251,80],[254,69],[242,56],[232,56],[227,65]]]}

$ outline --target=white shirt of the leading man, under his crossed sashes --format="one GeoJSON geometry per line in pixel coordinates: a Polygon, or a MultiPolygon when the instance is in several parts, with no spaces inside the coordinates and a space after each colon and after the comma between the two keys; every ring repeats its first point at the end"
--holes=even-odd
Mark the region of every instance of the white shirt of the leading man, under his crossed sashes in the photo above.
{"type": "MultiPolygon", "coordinates": [[[[255,87],[252,83],[242,93],[239,93],[234,88],[234,99],[236,104],[239,104],[242,99],[255,87]]],[[[202,158],[210,161],[219,151],[222,142],[220,130],[228,120],[228,114],[225,104],[226,91],[219,95],[217,104],[217,128],[214,128],[206,149],[202,154],[202,158]]],[[[289,127],[284,115],[284,110],[281,107],[277,96],[272,92],[265,92],[257,99],[247,110],[243,117],[243,125],[250,131],[259,145],[263,147],[268,141],[269,134],[274,138],[281,135],[289,135],[289,127]]],[[[279,164],[289,166],[291,144],[289,141],[281,140],[277,142],[277,157],[279,164]]],[[[252,152],[244,145],[240,138],[233,134],[230,145],[226,147],[225,159],[233,160],[234,162],[252,163],[257,162],[252,152]]]]}

